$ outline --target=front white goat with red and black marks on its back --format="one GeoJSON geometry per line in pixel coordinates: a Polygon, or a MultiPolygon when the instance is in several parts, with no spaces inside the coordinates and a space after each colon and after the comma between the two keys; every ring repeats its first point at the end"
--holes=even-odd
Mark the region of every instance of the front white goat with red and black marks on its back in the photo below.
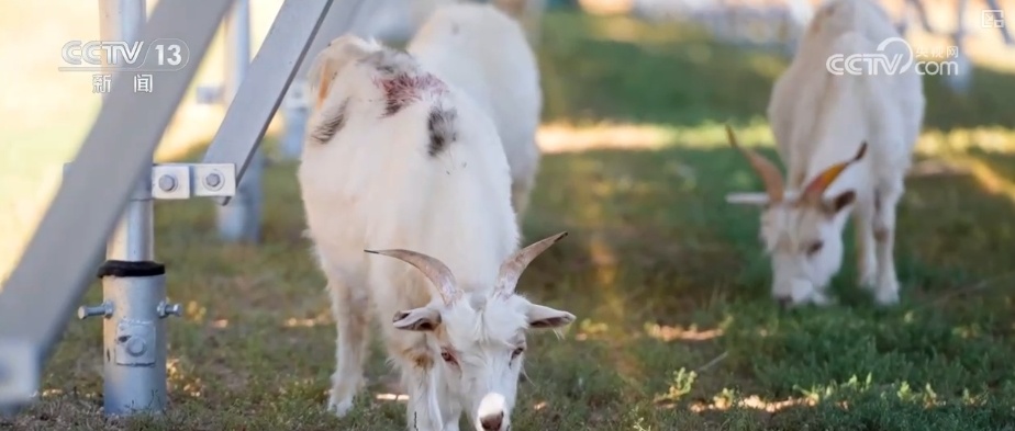
{"type": "Polygon", "coordinates": [[[457,430],[462,412],[477,430],[507,429],[526,330],[575,319],[515,284],[567,234],[515,252],[493,123],[412,56],[345,35],[311,73],[298,175],[338,328],[328,408],[346,415],[364,384],[372,303],[409,390],[409,429],[457,430]]]}

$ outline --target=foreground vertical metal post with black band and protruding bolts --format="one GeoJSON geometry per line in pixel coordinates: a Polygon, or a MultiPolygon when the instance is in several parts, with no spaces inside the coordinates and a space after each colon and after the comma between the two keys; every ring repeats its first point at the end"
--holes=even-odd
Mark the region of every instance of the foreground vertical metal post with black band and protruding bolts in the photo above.
{"type": "MultiPolygon", "coordinates": [[[[99,0],[103,41],[136,41],[146,21],[145,0],[99,0]]],[[[122,73],[104,65],[115,79],[122,73]]],[[[152,167],[135,180],[134,192],[107,243],[99,270],[103,303],[81,307],[81,319],[102,316],[105,415],[161,411],[166,406],[165,266],[154,261],[152,167]]]]}

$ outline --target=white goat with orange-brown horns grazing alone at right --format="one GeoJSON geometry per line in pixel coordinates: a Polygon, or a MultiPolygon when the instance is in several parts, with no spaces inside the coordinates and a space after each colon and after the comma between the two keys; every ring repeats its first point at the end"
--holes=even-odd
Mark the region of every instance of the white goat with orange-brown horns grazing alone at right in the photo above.
{"type": "Polygon", "coordinates": [[[828,68],[834,54],[882,48],[888,58],[912,61],[908,45],[892,37],[899,34],[888,14],[868,0],[823,4],[768,106],[788,169],[787,188],[774,165],[741,148],[766,193],[727,200],[763,205],[760,237],[771,256],[772,295],[782,303],[830,303],[825,287],[841,266],[850,213],[856,213],[860,285],[873,290],[878,304],[899,302],[895,208],[923,123],[921,76],[914,69],[855,73],[856,66],[836,76],[828,68]]]}

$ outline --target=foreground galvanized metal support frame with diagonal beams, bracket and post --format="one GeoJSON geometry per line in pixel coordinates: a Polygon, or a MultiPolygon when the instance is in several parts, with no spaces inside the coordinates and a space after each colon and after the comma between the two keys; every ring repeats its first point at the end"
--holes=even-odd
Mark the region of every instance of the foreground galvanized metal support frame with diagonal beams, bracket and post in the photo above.
{"type": "MultiPolygon", "coordinates": [[[[138,0],[100,1],[122,14],[136,10],[131,7],[138,0]]],[[[65,167],[52,205],[0,291],[3,412],[15,412],[38,396],[43,364],[89,285],[103,240],[109,258],[99,271],[104,300],[78,313],[79,318],[104,318],[105,413],[165,409],[161,319],[180,309],[165,300],[165,268],[153,260],[152,200],[209,196],[228,203],[333,0],[286,0],[202,163],[153,165],[155,147],[231,2],[159,1],[138,39],[182,39],[188,63],[159,75],[154,94],[134,93],[131,82],[120,79],[122,72],[114,75],[91,132],[65,167]],[[132,138],[131,145],[123,145],[123,136],[132,138]]]]}

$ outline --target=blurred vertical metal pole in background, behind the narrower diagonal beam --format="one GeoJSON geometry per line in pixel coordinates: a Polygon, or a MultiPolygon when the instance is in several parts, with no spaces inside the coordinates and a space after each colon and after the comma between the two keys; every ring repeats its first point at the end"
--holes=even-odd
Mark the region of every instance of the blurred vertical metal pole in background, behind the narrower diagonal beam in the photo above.
{"type": "MultiPolygon", "coordinates": [[[[233,3],[232,13],[226,18],[225,25],[227,64],[223,100],[227,106],[236,95],[247,67],[250,65],[249,0],[236,0],[233,3]]],[[[217,207],[219,235],[224,240],[249,242],[260,240],[264,165],[264,151],[258,147],[246,173],[239,181],[235,197],[228,204],[217,207]]]]}

